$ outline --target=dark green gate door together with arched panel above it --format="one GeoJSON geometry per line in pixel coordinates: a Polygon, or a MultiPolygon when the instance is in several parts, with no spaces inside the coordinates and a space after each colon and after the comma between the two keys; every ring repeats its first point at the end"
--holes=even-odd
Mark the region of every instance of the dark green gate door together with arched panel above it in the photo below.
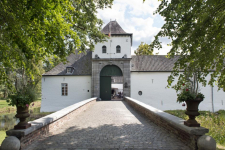
{"type": "Polygon", "coordinates": [[[123,76],[121,69],[116,65],[107,65],[101,70],[100,98],[102,100],[111,100],[111,78],[115,76],[123,76]]]}

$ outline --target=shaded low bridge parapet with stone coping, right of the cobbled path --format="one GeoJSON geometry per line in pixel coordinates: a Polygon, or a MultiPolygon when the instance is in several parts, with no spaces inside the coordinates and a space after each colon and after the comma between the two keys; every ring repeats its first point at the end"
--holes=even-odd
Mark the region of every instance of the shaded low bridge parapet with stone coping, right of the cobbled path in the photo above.
{"type": "Polygon", "coordinates": [[[162,110],[151,107],[138,100],[132,99],[130,97],[125,97],[124,99],[134,109],[144,114],[155,124],[165,128],[168,132],[175,134],[178,139],[180,139],[193,150],[198,149],[198,138],[209,132],[209,129],[204,127],[187,127],[184,125],[185,120],[165,113],[162,110]]]}

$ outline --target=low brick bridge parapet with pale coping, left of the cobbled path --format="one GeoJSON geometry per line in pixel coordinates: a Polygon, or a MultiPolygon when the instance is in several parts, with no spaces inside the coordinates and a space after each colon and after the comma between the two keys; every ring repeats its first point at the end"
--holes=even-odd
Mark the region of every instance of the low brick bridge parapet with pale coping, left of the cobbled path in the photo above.
{"type": "Polygon", "coordinates": [[[48,116],[31,121],[31,127],[24,130],[9,130],[6,131],[7,136],[15,136],[20,140],[21,149],[26,148],[38,138],[49,134],[58,127],[63,126],[71,118],[77,116],[80,112],[88,109],[97,98],[90,98],[74,105],[68,106],[48,116]]]}

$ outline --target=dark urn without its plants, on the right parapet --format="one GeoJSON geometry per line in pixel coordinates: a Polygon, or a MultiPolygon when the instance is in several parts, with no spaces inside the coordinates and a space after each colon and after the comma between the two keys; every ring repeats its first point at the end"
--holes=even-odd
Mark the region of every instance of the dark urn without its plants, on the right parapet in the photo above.
{"type": "Polygon", "coordinates": [[[198,106],[203,101],[201,98],[196,98],[195,100],[186,100],[187,109],[185,114],[188,115],[189,119],[184,121],[184,125],[188,127],[200,127],[200,124],[195,120],[196,116],[199,116],[198,106]]]}

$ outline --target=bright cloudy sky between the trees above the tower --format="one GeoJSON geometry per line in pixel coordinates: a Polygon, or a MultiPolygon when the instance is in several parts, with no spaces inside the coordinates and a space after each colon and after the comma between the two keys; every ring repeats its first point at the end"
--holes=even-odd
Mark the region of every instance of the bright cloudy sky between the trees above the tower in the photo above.
{"type": "MultiPolygon", "coordinates": [[[[133,54],[141,42],[150,44],[162,27],[164,19],[160,15],[153,15],[159,4],[158,0],[146,0],[144,3],[142,0],[114,0],[111,9],[98,10],[98,17],[103,20],[103,27],[111,19],[116,20],[127,33],[133,33],[133,54]]],[[[168,41],[163,38],[163,48],[154,53],[166,55],[170,49],[165,43],[168,41]]]]}

